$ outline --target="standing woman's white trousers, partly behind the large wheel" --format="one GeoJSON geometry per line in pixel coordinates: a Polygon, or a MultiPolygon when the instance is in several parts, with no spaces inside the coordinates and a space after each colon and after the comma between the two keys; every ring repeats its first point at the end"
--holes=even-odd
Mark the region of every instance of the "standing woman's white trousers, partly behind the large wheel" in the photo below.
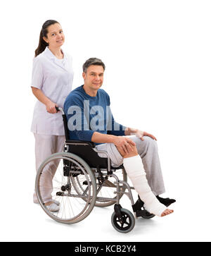
{"type": "MultiPolygon", "coordinates": [[[[35,163],[36,163],[36,171],[38,171],[41,163],[47,158],[50,157],[51,154],[57,152],[63,152],[63,147],[65,143],[65,136],[63,135],[44,135],[34,133],[35,138],[35,163]]],[[[52,200],[52,177],[55,174],[56,168],[58,166],[58,162],[54,163],[52,166],[49,166],[51,170],[44,170],[44,175],[42,176],[41,183],[43,183],[43,187],[45,188],[42,191],[42,198],[44,202],[50,202],[52,200]],[[53,169],[52,169],[53,166],[53,169]],[[50,171],[50,173],[49,173],[50,171]],[[46,174],[45,174],[46,173],[46,174]]],[[[38,203],[37,195],[34,190],[33,195],[34,203],[38,203]]]]}

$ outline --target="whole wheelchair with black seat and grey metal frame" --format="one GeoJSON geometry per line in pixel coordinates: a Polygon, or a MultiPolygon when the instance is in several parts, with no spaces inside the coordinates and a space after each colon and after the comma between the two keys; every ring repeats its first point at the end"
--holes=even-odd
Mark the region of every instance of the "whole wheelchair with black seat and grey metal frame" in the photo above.
{"type": "Polygon", "coordinates": [[[143,204],[141,209],[136,209],[132,195],[134,188],[127,183],[124,166],[111,166],[108,153],[96,150],[94,142],[70,140],[65,113],[62,108],[56,109],[62,112],[65,145],[63,152],[51,154],[37,171],[35,191],[44,212],[58,222],[74,224],[85,219],[94,206],[114,205],[111,223],[121,233],[132,231],[137,217],[153,218],[155,215],[149,214],[143,204]],[[98,157],[98,153],[107,157],[98,157]],[[51,184],[45,182],[45,176],[52,177],[51,184]],[[47,207],[45,190],[50,190],[52,200],[59,202],[57,212],[51,212],[47,207]],[[120,205],[123,195],[129,197],[134,214],[120,205]]]}

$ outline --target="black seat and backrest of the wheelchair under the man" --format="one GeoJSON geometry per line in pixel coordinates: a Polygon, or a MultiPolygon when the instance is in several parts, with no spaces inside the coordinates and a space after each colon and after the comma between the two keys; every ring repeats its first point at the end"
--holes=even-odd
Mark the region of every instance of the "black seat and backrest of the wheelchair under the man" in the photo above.
{"type": "Polygon", "coordinates": [[[123,164],[121,166],[113,167],[109,166],[108,168],[108,158],[107,157],[99,157],[98,153],[94,151],[95,143],[89,141],[82,140],[70,140],[69,138],[69,130],[68,130],[68,121],[65,113],[63,112],[63,124],[65,129],[65,144],[68,145],[68,152],[72,154],[77,154],[77,156],[84,159],[84,161],[89,164],[90,168],[97,169],[122,169],[123,164]]]}

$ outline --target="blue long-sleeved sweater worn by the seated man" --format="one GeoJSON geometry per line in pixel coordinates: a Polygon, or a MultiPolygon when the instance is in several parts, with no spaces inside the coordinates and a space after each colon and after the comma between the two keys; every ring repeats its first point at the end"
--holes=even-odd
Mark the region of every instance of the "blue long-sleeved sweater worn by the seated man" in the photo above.
{"type": "Polygon", "coordinates": [[[115,122],[110,111],[110,97],[102,89],[98,90],[96,97],[91,97],[84,91],[83,85],[77,87],[65,99],[64,111],[70,140],[91,141],[95,131],[124,135],[125,126],[115,122]]]}

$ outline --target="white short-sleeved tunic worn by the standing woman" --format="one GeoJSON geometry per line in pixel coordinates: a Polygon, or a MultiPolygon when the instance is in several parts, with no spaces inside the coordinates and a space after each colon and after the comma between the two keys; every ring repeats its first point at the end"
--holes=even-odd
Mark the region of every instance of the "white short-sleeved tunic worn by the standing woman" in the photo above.
{"type": "MultiPolygon", "coordinates": [[[[64,53],[58,59],[48,47],[33,60],[32,85],[40,89],[46,97],[63,107],[65,98],[72,90],[72,57],[64,53]]],[[[32,118],[32,133],[45,135],[65,135],[60,111],[50,114],[46,106],[37,100],[32,118]]]]}

